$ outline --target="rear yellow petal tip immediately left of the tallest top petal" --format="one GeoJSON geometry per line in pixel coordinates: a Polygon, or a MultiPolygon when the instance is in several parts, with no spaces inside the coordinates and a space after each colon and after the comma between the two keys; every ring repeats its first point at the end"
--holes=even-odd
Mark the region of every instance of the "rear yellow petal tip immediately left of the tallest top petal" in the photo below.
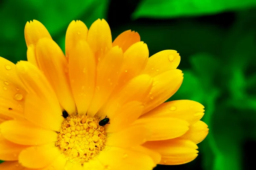
{"type": "Polygon", "coordinates": [[[67,28],[66,39],[65,39],[65,54],[69,57],[70,51],[76,47],[76,43],[80,40],[86,41],[88,28],[80,20],[72,21],[67,28]]]}

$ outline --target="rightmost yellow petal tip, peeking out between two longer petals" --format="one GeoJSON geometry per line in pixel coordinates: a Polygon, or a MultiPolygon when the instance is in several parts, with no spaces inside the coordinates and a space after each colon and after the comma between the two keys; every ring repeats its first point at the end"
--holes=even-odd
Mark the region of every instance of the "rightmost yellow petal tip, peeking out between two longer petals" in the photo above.
{"type": "Polygon", "coordinates": [[[180,136],[180,138],[189,139],[195,142],[195,144],[198,144],[206,138],[209,131],[207,127],[206,123],[198,121],[190,125],[189,130],[183,136],[180,136]]]}

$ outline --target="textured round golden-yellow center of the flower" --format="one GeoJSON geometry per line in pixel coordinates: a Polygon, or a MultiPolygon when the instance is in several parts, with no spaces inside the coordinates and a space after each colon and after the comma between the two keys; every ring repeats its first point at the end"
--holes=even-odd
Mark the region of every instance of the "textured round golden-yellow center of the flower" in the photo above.
{"type": "Polygon", "coordinates": [[[106,137],[96,118],[73,115],[62,123],[56,145],[69,161],[83,164],[105,147],[106,137]]]}

